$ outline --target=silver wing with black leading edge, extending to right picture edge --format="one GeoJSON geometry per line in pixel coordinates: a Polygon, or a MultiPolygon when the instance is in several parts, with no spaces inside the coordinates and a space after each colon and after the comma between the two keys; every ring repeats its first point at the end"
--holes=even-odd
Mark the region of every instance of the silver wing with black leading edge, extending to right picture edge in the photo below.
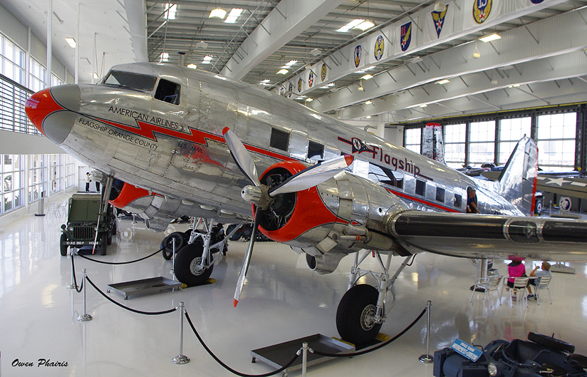
{"type": "Polygon", "coordinates": [[[410,252],[587,261],[587,221],[583,220],[410,210],[390,217],[387,228],[410,252]]]}

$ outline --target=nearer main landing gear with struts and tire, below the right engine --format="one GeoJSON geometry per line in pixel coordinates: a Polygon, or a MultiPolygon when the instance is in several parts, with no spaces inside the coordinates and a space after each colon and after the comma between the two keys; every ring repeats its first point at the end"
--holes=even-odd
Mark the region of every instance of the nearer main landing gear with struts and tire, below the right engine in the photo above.
{"type": "Polygon", "coordinates": [[[376,250],[365,250],[360,258],[358,252],[355,254],[355,264],[350,269],[348,291],[344,294],[336,311],[336,329],[343,340],[355,345],[367,344],[379,334],[383,321],[395,304],[395,279],[398,279],[400,272],[413,257],[412,255],[405,257],[398,271],[390,279],[389,267],[392,254],[388,252],[385,264],[380,252],[376,250]],[[359,268],[359,265],[371,253],[377,258],[383,272],[359,268]],[[357,284],[358,280],[366,275],[375,278],[377,286],[357,284]],[[390,303],[387,302],[388,291],[391,291],[393,296],[390,303]]]}

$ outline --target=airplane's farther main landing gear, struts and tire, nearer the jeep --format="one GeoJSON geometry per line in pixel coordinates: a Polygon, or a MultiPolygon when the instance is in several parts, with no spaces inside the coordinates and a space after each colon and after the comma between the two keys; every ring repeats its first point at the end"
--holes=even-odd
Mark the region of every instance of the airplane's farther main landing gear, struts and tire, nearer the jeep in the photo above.
{"type": "MultiPolygon", "coordinates": [[[[238,229],[239,227],[234,228],[234,232],[238,229]]],[[[172,233],[163,240],[162,249],[165,259],[168,259],[168,257],[171,259],[172,257],[168,250],[168,246],[172,244],[172,239],[176,239],[176,249],[181,245],[173,264],[173,271],[177,280],[187,286],[197,286],[207,282],[214,269],[213,254],[222,252],[226,255],[227,241],[232,235],[218,237],[218,233],[219,228],[214,227],[214,219],[196,219],[194,217],[193,228],[189,232],[187,244],[183,242],[182,234],[172,233]],[[204,225],[204,232],[197,230],[200,224],[204,225]]]]}

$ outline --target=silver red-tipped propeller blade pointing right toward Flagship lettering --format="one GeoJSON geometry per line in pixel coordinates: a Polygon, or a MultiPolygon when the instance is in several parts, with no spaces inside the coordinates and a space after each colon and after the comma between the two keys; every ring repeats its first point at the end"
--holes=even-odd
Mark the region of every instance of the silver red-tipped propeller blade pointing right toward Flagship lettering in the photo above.
{"type": "Polygon", "coordinates": [[[352,163],[353,156],[343,155],[333,158],[332,160],[321,162],[318,165],[313,165],[295,175],[292,175],[288,180],[281,183],[281,185],[269,190],[269,196],[274,197],[275,195],[284,194],[286,192],[307,190],[310,187],[319,185],[325,180],[334,177],[352,163]]]}

